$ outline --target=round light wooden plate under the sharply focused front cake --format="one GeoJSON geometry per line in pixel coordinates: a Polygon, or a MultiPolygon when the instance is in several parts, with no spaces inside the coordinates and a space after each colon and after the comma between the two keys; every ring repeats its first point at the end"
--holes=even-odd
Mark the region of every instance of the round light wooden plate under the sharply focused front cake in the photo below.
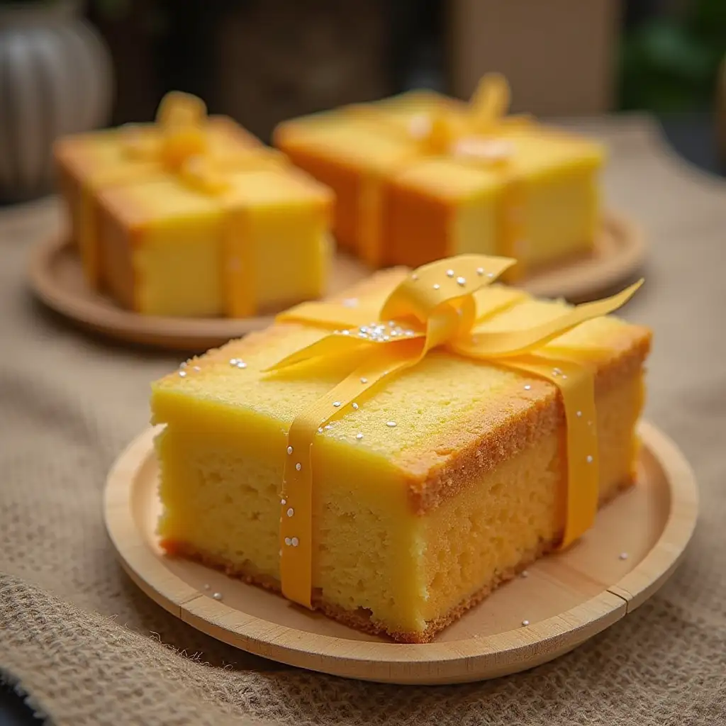
{"type": "Polygon", "coordinates": [[[637,485],[605,506],[580,542],[538,560],[528,576],[499,587],[433,643],[401,645],[164,555],[154,534],[160,513],[154,435],[145,431],[121,454],[105,490],[107,530],[134,582],[170,613],[225,643],[343,677],[458,683],[550,661],[653,595],[696,524],[698,494],[688,462],[655,426],[642,423],[637,485]]]}

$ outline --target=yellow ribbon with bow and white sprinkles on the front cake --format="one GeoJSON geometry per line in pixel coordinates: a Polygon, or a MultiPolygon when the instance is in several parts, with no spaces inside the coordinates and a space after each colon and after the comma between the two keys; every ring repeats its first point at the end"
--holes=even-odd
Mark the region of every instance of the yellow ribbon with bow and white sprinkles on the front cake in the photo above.
{"type": "Polygon", "coordinates": [[[289,455],[280,519],[280,576],[285,597],[311,607],[311,449],[315,436],[330,420],[346,415],[354,403],[364,405],[388,378],[415,366],[438,346],[536,375],[558,387],[566,415],[568,452],[566,523],[560,547],[567,547],[590,528],[597,513],[598,492],[594,374],[578,360],[576,351],[558,348],[555,354],[543,346],[582,322],[618,309],[643,281],[533,327],[490,330],[490,318],[525,296],[508,288],[488,287],[514,263],[502,257],[457,256],[408,274],[377,314],[338,303],[303,303],[278,317],[282,322],[335,330],[277,362],[268,372],[305,363],[314,366],[338,357],[355,361],[341,383],[295,417],[287,434],[289,455]]]}

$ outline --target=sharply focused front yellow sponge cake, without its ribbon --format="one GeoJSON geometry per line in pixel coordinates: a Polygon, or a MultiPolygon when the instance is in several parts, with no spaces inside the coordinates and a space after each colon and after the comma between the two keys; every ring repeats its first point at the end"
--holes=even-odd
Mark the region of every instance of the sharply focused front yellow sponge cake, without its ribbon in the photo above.
{"type": "MultiPolygon", "coordinates": [[[[380,272],[341,304],[362,314],[380,309],[408,277],[380,272]]],[[[434,285],[445,280],[442,273],[434,285]]],[[[478,335],[492,340],[571,312],[498,285],[482,301],[491,305],[478,335]]],[[[297,555],[308,545],[310,602],[303,604],[423,643],[563,538],[571,494],[586,486],[568,482],[568,457],[585,455],[568,448],[568,426],[597,437],[585,464],[595,468],[592,516],[598,501],[634,481],[650,346],[643,327],[596,317],[538,349],[542,356],[576,351],[594,386],[594,407],[578,408],[574,421],[551,380],[436,346],[370,395],[333,401],[335,416],[311,430],[308,459],[292,439],[293,421],[348,380],[351,361],[323,356],[311,367],[267,372],[335,337],[322,322],[293,320],[209,351],[153,386],[153,420],[164,425],[158,532],[171,555],[287,594],[283,551],[297,555]],[[306,503],[293,480],[307,466],[306,503]]],[[[390,335],[418,340],[397,325],[390,335]]],[[[366,330],[360,335],[372,340],[366,330]]],[[[400,342],[403,351],[409,343],[400,342]]],[[[568,369],[558,370],[567,378],[568,369]]]]}

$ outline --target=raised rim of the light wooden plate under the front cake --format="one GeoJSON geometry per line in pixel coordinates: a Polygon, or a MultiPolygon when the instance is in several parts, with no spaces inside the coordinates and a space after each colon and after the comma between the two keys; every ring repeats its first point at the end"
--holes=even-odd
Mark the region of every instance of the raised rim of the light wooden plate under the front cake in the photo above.
{"type": "Polygon", "coordinates": [[[483,680],[533,667],[572,650],[637,608],[668,579],[696,526],[698,492],[677,446],[641,422],[641,456],[651,456],[669,487],[669,514],[650,552],[626,576],[584,603],[528,628],[446,643],[404,645],[321,635],[266,621],[207,597],[171,573],[136,526],[131,491],[152,454],[155,429],[144,431],[107,478],[104,515],[121,564],[152,600],[208,635],[282,663],[364,680],[441,683],[483,680]],[[442,674],[438,666],[446,666],[442,674]]]}

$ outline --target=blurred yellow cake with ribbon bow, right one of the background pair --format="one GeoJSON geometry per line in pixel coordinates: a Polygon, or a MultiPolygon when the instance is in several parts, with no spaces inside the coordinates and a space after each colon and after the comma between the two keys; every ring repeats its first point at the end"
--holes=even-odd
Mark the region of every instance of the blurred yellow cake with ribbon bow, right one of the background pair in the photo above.
{"type": "Polygon", "coordinates": [[[335,191],[335,237],[368,264],[482,253],[522,274],[592,249],[604,150],[508,106],[485,76],[468,104],[412,91],[287,121],[274,144],[335,191]]]}

